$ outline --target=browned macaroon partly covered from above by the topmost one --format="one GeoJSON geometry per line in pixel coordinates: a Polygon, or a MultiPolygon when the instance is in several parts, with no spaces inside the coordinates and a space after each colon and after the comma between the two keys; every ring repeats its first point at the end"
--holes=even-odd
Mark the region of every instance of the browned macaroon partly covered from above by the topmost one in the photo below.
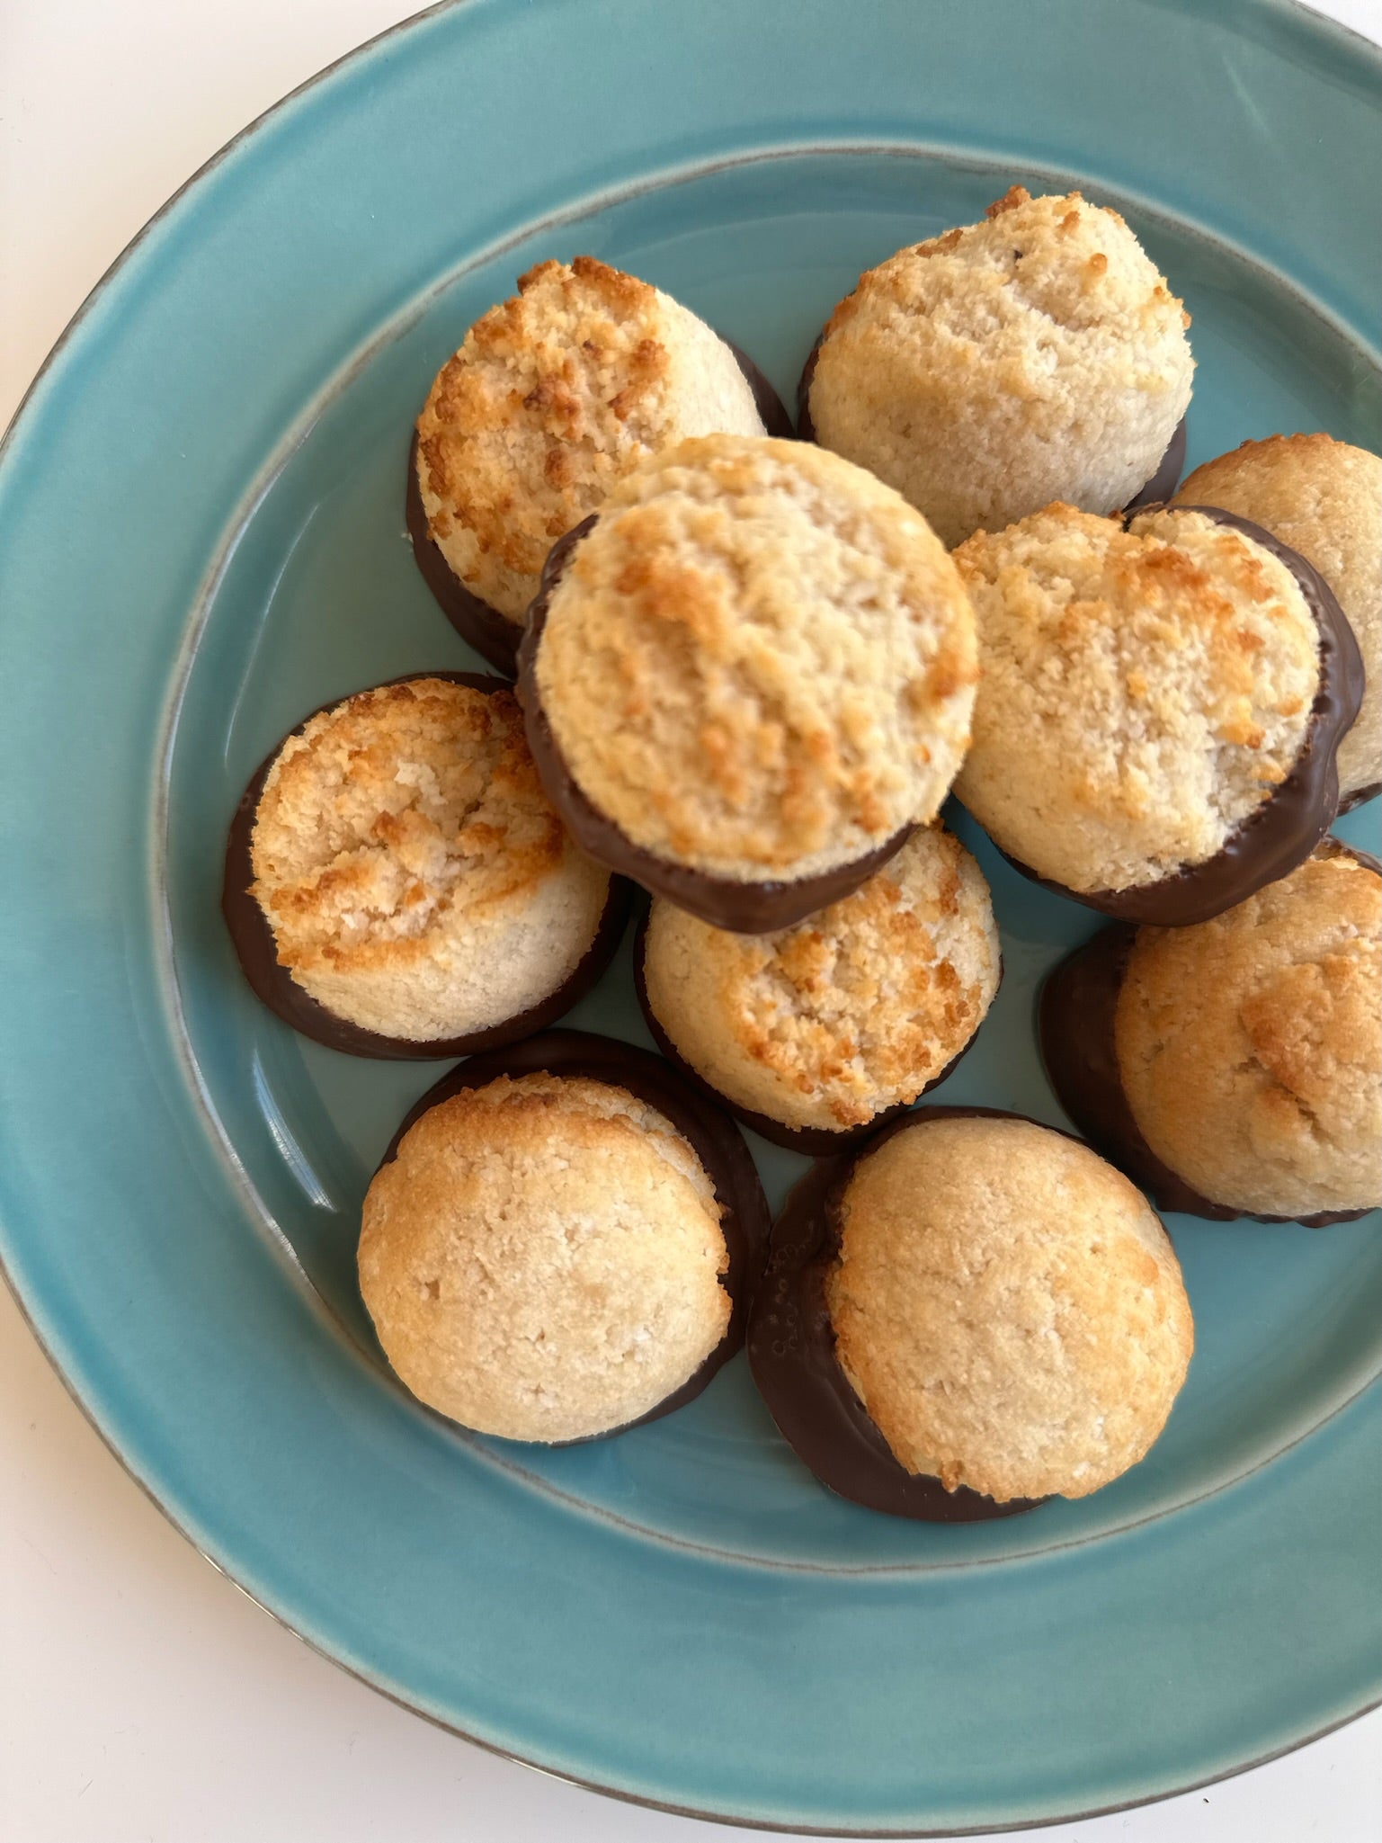
{"type": "Polygon", "coordinates": [[[936,824],[853,896],[776,934],[730,934],[654,901],[639,979],[663,1049],[746,1124],[831,1150],[947,1073],[1001,966],[984,874],[936,824]]]}

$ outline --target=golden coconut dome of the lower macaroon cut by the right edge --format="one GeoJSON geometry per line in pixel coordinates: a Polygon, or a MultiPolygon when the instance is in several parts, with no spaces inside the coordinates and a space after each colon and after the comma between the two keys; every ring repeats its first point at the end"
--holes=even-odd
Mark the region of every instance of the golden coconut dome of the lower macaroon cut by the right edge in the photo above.
{"type": "Polygon", "coordinates": [[[1201,1196],[1382,1203],[1382,877],[1327,840],[1212,922],[1139,929],[1115,1043],[1142,1137],[1201,1196]]]}

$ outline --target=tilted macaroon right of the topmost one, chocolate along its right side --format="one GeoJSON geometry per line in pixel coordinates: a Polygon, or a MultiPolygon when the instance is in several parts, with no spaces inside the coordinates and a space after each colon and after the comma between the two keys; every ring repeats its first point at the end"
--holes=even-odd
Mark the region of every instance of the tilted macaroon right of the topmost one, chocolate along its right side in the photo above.
{"type": "Polygon", "coordinates": [[[1207,507],[1050,505],[955,562],[982,662],[955,791],[1021,870],[1179,925],[1308,857],[1362,671],[1305,558],[1207,507]]]}

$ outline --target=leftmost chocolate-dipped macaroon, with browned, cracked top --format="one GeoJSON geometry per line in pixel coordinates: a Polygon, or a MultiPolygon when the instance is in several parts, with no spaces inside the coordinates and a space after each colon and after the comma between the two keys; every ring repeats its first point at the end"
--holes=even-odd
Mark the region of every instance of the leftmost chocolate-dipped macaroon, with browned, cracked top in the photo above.
{"type": "Polygon", "coordinates": [[[256,995],[356,1056],[459,1056],[560,1017],[627,885],[553,813],[512,687],[433,673],[300,724],[230,829],[225,916],[256,995]]]}

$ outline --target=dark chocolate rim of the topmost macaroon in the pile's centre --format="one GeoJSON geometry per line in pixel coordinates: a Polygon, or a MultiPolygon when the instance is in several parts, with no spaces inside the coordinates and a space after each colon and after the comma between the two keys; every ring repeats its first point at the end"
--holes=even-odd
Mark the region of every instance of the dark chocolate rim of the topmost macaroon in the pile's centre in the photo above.
{"type": "Polygon", "coordinates": [[[571,837],[597,863],[608,864],[610,870],[632,877],[654,896],[665,896],[678,909],[700,916],[711,927],[728,929],[732,934],[770,934],[774,929],[805,922],[818,909],[849,896],[907,844],[916,831],[914,826],[903,826],[875,851],[868,851],[849,864],[838,864],[835,870],[824,870],[814,877],[798,877],[792,883],[739,883],[735,877],[713,877],[706,870],[673,864],[665,857],[645,851],[632,839],[627,839],[577,785],[542,708],[536,665],[551,592],[562,579],[571,551],[590,534],[593,525],[595,514],[591,512],[551,547],[551,555],[542,566],[542,586],[527,612],[523,643],[518,649],[518,700],[523,706],[527,746],[533,750],[547,798],[560,813],[571,837]]]}

